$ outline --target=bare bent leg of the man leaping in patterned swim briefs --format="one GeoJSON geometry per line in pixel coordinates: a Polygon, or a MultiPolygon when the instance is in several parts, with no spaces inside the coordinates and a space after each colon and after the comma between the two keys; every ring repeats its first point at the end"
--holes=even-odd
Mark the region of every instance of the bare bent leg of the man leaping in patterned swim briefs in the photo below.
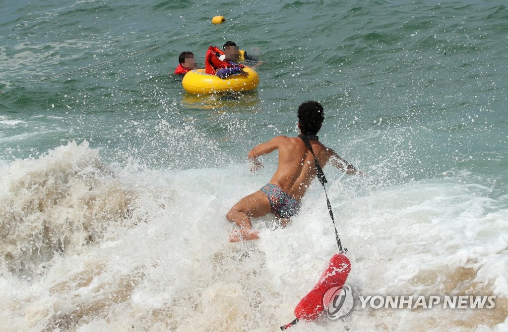
{"type": "Polygon", "coordinates": [[[260,217],[270,211],[270,202],[262,191],[257,191],[242,198],[226,215],[230,222],[240,227],[239,230],[234,230],[230,233],[229,241],[238,242],[259,239],[258,232],[252,230],[250,218],[260,217]]]}

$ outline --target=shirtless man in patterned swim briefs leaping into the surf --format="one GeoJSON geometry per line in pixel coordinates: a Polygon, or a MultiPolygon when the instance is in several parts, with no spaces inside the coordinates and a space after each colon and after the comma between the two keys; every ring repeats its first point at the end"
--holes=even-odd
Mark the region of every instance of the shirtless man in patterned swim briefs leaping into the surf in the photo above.
{"type": "MultiPolygon", "coordinates": [[[[319,102],[306,101],[298,107],[298,128],[309,139],[320,166],[324,167],[330,161],[347,174],[365,175],[318,141],[316,134],[324,119],[323,106],[319,102]]],[[[276,136],[249,151],[247,156],[252,163],[250,170],[257,172],[263,167],[258,157],[275,150],[278,150],[279,160],[270,182],[257,192],[242,198],[226,215],[230,222],[240,227],[231,232],[230,242],[259,239],[259,233],[252,230],[252,217],[272,212],[279,219],[280,225],[285,227],[300,209],[300,201],[316,175],[314,157],[302,138],[276,136]]]]}

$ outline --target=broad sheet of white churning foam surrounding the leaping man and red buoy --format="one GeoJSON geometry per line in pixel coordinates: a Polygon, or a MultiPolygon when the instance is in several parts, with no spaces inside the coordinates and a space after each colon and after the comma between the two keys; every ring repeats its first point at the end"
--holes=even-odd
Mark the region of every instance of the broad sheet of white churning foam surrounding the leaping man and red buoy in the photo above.
{"type": "MultiPolygon", "coordinates": [[[[115,173],[136,193],[132,213],[144,222],[113,224],[29,283],[4,274],[0,319],[12,330],[278,330],[294,319],[336,244],[319,183],[287,228],[274,229],[268,215],[253,220],[260,240],[227,242],[234,228],[227,211],[266,183],[267,168],[257,175],[246,165],[168,171],[131,160],[115,173]]],[[[497,306],[383,311],[355,305],[342,320],[301,321],[295,331],[405,330],[414,321],[422,330],[502,330],[508,210],[485,195],[488,188],[447,178],[371,193],[354,177],[331,174],[329,181],[356,301],[358,294],[466,292],[493,293],[497,306]]]]}

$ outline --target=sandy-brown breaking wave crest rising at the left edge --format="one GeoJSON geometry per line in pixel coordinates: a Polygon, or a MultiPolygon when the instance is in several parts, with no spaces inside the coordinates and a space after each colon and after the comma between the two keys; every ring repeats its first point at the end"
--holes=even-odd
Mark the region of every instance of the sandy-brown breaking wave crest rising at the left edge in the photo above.
{"type": "Polygon", "coordinates": [[[17,160],[0,174],[0,257],[27,277],[55,253],[97,241],[133,199],[86,141],[17,160]]]}

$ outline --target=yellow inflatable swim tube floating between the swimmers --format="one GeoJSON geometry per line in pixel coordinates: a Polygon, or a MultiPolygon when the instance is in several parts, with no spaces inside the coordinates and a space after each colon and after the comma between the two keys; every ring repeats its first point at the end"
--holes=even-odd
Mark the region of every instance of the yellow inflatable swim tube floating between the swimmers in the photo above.
{"type": "Polygon", "coordinates": [[[207,74],[205,69],[190,70],[182,80],[185,91],[192,94],[208,94],[217,92],[248,91],[258,87],[259,76],[256,70],[245,67],[249,76],[232,75],[226,79],[219,79],[215,75],[207,74]]]}

